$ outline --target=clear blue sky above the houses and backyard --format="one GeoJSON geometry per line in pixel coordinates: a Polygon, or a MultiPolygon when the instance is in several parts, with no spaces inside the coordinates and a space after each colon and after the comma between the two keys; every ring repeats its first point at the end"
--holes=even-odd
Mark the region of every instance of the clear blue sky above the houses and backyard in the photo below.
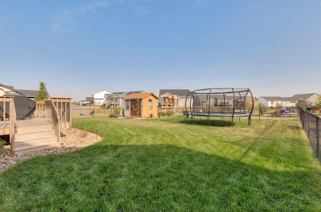
{"type": "Polygon", "coordinates": [[[321,1],[0,0],[0,83],[53,97],[321,91],[321,1]]]}

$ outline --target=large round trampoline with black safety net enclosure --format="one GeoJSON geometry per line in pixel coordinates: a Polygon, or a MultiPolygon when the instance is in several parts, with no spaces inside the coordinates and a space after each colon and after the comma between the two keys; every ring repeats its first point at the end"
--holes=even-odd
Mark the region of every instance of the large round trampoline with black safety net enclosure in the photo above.
{"type": "Polygon", "coordinates": [[[186,117],[183,121],[191,122],[195,117],[206,117],[211,124],[211,117],[231,118],[232,127],[235,117],[248,117],[254,108],[254,98],[248,88],[206,88],[190,91],[185,101],[186,117]]]}

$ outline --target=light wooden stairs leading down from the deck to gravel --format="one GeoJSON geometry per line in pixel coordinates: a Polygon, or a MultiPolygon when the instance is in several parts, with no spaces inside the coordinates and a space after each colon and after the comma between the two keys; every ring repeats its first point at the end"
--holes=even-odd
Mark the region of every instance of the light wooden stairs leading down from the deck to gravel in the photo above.
{"type": "Polygon", "coordinates": [[[59,145],[51,124],[15,128],[15,155],[59,145]]]}

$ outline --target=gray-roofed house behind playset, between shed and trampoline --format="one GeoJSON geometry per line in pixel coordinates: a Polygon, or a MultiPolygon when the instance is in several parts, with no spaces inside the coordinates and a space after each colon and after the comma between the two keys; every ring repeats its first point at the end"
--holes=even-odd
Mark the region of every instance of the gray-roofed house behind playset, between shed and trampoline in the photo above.
{"type": "MultiPolygon", "coordinates": [[[[178,96],[178,107],[185,107],[185,102],[189,104],[191,96],[189,95],[190,90],[188,89],[160,89],[159,90],[159,102],[158,105],[166,107],[169,104],[169,96],[178,96]]],[[[172,104],[174,105],[174,104],[172,104]]]]}

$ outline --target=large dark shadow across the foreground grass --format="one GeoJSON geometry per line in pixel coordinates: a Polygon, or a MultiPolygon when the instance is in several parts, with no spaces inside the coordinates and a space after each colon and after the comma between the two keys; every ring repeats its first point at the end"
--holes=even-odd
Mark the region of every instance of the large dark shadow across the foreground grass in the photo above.
{"type": "Polygon", "coordinates": [[[0,176],[2,211],[321,210],[310,171],[279,172],[172,145],[100,143],[36,157],[0,176]]]}

